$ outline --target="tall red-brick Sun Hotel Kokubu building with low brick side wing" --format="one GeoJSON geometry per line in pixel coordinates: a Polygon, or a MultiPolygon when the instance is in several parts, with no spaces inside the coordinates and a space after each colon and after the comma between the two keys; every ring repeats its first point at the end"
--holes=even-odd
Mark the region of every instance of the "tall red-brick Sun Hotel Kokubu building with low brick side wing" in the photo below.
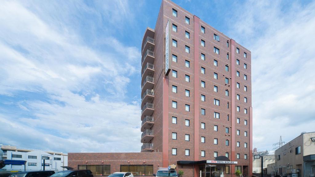
{"type": "MultiPolygon", "coordinates": [[[[184,176],[224,177],[236,169],[251,176],[251,52],[162,0],[155,29],[142,40],[141,64],[141,153],[161,154],[160,167],[177,164],[184,176]]],[[[128,161],[144,165],[136,162],[148,159],[141,153],[115,154],[107,163],[107,153],[69,153],[69,166],[104,164],[115,172],[128,161]]]]}

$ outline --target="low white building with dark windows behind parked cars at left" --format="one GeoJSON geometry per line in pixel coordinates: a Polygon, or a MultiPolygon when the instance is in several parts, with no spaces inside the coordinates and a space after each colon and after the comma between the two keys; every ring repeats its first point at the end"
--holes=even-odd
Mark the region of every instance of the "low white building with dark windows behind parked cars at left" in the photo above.
{"type": "MultiPolygon", "coordinates": [[[[68,155],[62,152],[47,152],[39,149],[18,148],[15,146],[0,146],[0,160],[25,160],[26,171],[43,170],[43,159],[45,159],[45,170],[60,171],[68,165],[68,155]]],[[[3,169],[7,171],[24,171],[21,165],[6,165],[3,169]]]]}

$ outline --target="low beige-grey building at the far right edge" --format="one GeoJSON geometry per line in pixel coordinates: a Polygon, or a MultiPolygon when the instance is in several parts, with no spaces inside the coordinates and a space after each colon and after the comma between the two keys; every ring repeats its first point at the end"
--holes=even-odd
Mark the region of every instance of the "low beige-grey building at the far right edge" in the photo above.
{"type": "MultiPolygon", "coordinates": [[[[275,151],[275,171],[278,175],[315,175],[315,132],[300,136],[275,151]]],[[[269,172],[268,172],[269,173],[269,172]]]]}

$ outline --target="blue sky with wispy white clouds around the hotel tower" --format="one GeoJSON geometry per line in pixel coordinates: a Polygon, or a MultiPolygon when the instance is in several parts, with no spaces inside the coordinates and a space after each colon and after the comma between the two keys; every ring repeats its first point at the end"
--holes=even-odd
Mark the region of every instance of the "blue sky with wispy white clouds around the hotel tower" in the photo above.
{"type": "MultiPolygon", "coordinates": [[[[315,130],[314,1],[174,2],[251,50],[254,147],[315,130]]],[[[140,151],[141,40],[160,4],[4,1],[0,142],[140,151]]]]}

